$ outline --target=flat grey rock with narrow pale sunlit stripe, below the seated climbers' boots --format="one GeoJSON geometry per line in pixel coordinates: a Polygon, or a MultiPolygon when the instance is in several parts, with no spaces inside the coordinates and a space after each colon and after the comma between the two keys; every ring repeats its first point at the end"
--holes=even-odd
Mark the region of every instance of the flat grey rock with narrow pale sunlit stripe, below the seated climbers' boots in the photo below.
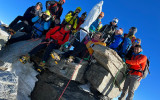
{"type": "Polygon", "coordinates": [[[81,63],[67,63],[65,59],[62,59],[58,64],[54,63],[51,58],[49,61],[49,70],[58,75],[66,77],[80,83],[83,83],[83,75],[86,70],[87,61],[82,61],[81,63]]]}

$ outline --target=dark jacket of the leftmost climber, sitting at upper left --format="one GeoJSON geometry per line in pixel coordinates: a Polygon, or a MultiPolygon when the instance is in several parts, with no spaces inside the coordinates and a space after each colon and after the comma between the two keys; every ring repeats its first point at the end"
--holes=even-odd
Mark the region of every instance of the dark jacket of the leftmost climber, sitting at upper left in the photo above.
{"type": "Polygon", "coordinates": [[[33,25],[32,18],[35,16],[39,16],[40,14],[41,14],[41,10],[36,10],[36,7],[32,6],[26,10],[23,17],[28,21],[30,25],[33,25]]]}

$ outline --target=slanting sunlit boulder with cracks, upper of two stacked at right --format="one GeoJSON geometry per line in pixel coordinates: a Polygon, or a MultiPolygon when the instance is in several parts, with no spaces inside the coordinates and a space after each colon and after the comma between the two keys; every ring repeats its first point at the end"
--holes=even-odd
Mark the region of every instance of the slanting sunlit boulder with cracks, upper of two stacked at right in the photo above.
{"type": "Polygon", "coordinates": [[[93,56],[96,61],[107,69],[113,77],[116,77],[117,84],[121,83],[121,80],[124,79],[127,66],[117,52],[101,45],[95,45],[93,50],[93,56]]]}

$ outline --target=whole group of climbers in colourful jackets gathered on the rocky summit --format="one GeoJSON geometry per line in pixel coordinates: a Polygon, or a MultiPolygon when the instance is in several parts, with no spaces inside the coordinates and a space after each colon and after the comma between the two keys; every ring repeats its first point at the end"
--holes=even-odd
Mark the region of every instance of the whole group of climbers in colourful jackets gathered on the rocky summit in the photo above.
{"type": "MultiPolygon", "coordinates": [[[[119,97],[123,100],[128,90],[127,100],[132,100],[134,91],[136,90],[141,77],[142,71],[145,68],[147,57],[142,54],[141,40],[135,37],[137,32],[136,27],[131,27],[128,34],[123,35],[123,28],[118,29],[118,18],[114,18],[109,24],[102,25],[101,19],[104,17],[104,12],[101,12],[97,19],[91,24],[89,34],[80,42],[81,24],[84,23],[87,17],[87,12],[84,12],[81,17],[78,14],[82,11],[81,7],[77,7],[75,11],[69,11],[65,19],[60,23],[60,17],[63,12],[62,5],[65,0],[46,1],[46,11],[42,12],[42,3],[38,2],[36,6],[32,6],[26,10],[23,16],[18,16],[8,27],[8,32],[11,35],[15,34],[23,28],[25,35],[12,38],[8,44],[18,41],[46,38],[33,48],[22,59],[30,60],[33,54],[36,54],[40,49],[45,49],[44,55],[38,66],[44,67],[53,49],[59,49],[67,41],[72,41],[73,50],[69,50],[61,55],[61,58],[68,59],[69,62],[77,61],[76,57],[84,60],[91,60],[94,45],[107,46],[115,50],[123,61],[129,64],[129,75],[125,81],[124,88],[119,97]],[[18,21],[21,22],[18,23],[18,21]]],[[[79,62],[79,61],[77,61],[79,62]]]]}

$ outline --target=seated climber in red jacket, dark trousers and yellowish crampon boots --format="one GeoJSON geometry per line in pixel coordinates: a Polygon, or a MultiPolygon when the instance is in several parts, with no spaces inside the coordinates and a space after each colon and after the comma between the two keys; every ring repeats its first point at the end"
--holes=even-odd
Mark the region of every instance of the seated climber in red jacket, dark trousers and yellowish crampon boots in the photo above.
{"type": "MultiPolygon", "coordinates": [[[[40,49],[45,48],[45,52],[39,66],[44,67],[53,49],[59,49],[62,44],[68,41],[71,25],[65,27],[56,26],[48,31],[45,40],[42,40],[38,46],[32,49],[27,55],[22,56],[22,61],[29,61],[30,56],[36,54],[40,49]]],[[[23,62],[22,62],[23,63],[23,62]]]]}

